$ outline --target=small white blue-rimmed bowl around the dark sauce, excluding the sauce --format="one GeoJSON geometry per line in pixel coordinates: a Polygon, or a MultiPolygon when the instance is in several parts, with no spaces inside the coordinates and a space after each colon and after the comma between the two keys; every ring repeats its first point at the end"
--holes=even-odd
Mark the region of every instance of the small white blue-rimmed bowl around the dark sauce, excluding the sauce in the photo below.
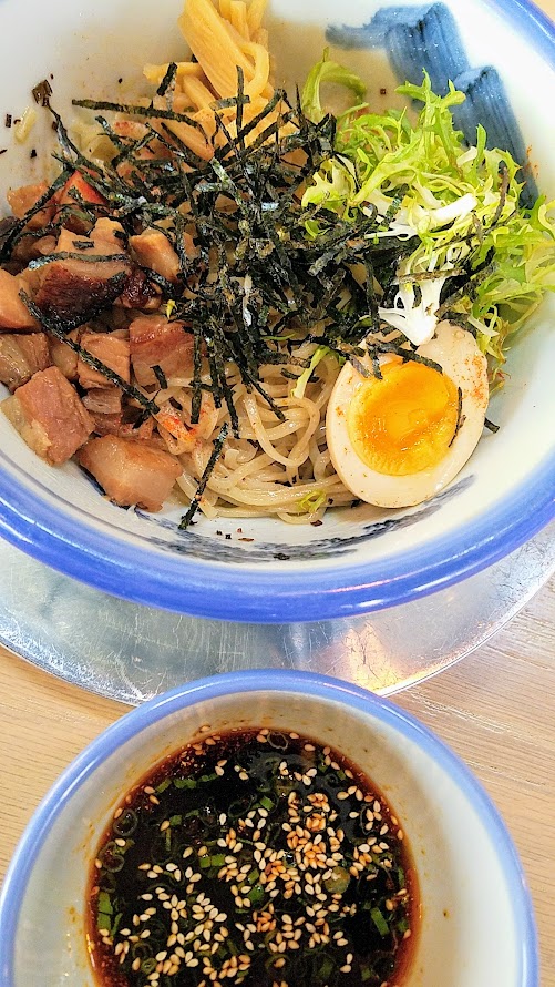
{"type": "Polygon", "coordinates": [[[461,761],[369,692],[309,673],[265,671],[204,679],[145,703],[70,765],[32,818],[3,885],[2,987],[94,987],[85,903],[115,807],[188,743],[249,727],[270,731],[276,743],[295,731],[329,744],[394,812],[410,846],[420,913],[404,987],[537,987],[534,917],[514,846],[461,761]]]}

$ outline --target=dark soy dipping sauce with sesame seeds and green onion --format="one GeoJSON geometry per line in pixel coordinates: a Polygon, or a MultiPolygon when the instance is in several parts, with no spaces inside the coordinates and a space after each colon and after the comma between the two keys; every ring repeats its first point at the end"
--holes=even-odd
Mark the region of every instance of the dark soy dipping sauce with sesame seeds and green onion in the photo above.
{"type": "Polygon", "coordinates": [[[418,916],[382,795],[265,729],[206,735],[126,795],[88,908],[103,987],[399,987],[418,916]]]}

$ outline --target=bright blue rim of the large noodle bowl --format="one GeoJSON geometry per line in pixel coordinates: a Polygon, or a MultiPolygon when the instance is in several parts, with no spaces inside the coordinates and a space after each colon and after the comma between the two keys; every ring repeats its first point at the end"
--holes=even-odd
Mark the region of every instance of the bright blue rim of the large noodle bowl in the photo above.
{"type": "MultiPolygon", "coordinates": [[[[555,23],[531,0],[485,0],[555,67],[555,23]]],[[[155,553],[82,526],[42,503],[0,468],[0,535],[66,576],[113,596],[194,617],[282,623],[352,617],[444,589],[504,558],[555,517],[555,454],[492,510],[453,538],[373,567],[331,573],[279,561],[271,572],[155,553]],[[400,566],[402,571],[399,571],[400,566]],[[281,568],[282,567],[282,568],[281,568]]],[[[286,549],[284,549],[286,551],[286,549]]]]}

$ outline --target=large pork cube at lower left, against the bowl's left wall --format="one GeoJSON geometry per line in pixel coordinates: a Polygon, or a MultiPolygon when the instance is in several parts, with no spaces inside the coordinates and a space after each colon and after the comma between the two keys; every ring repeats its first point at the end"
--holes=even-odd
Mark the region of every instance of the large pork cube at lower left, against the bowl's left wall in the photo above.
{"type": "Polygon", "coordinates": [[[27,445],[52,466],[70,459],[93,428],[76,390],[58,367],[39,370],[0,407],[27,445]]]}

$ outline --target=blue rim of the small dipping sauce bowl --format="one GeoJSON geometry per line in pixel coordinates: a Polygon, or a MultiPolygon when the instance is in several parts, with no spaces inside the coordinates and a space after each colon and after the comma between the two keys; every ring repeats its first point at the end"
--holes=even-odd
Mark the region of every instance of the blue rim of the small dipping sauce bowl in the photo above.
{"type": "Polygon", "coordinates": [[[515,928],[521,929],[517,987],[537,987],[538,940],[532,899],[508,830],[495,805],[464,762],[432,731],[388,700],[357,685],[291,670],[229,672],[199,679],[156,696],[107,727],[65,769],[31,818],[0,892],[0,985],[14,987],[14,944],[25,888],[44,838],[72,794],[115,750],[165,716],[198,701],[248,692],[288,692],[343,703],[398,730],[445,770],[474,806],[497,856],[510,892],[515,928]]]}

